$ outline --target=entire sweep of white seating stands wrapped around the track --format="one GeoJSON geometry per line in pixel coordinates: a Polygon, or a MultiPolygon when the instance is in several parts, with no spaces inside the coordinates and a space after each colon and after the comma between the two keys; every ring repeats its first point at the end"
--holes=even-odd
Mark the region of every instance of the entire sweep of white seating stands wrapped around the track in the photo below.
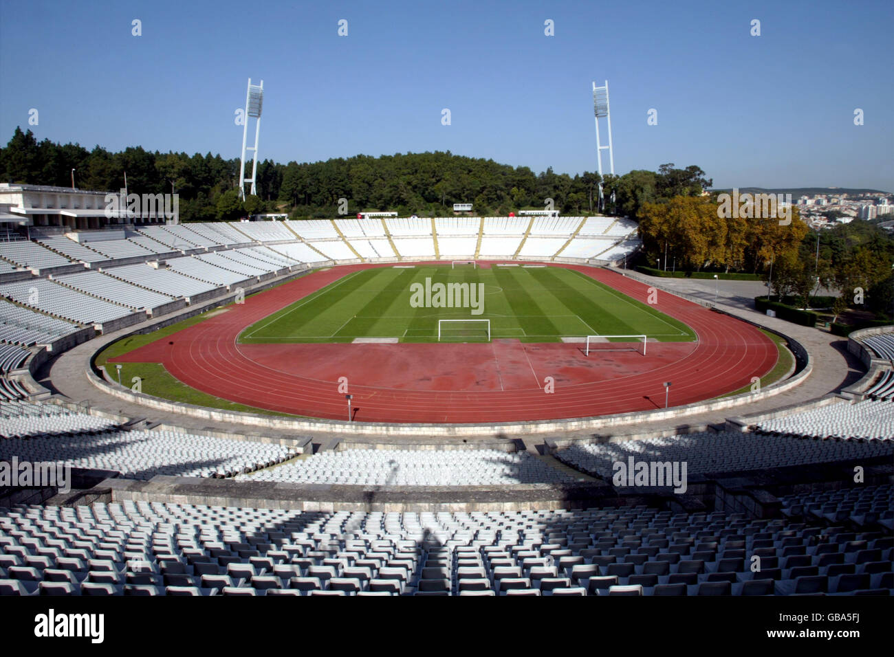
{"type": "MultiPolygon", "coordinates": [[[[93,331],[85,326],[204,299],[213,307],[227,286],[274,274],[435,254],[608,264],[638,248],[636,231],[602,216],[381,217],[143,226],[86,241],[35,231],[35,240],[0,243],[0,461],[118,473],[105,480],[112,501],[0,506],[0,594],[894,592],[884,484],[894,374],[876,360],[854,400],[747,418],[741,432],[560,435],[561,447],[542,453],[505,437],[498,449],[412,439],[383,449],[359,437],[341,446],[272,431],[152,428],[34,400],[13,378],[42,345],[93,331]],[[685,504],[667,487],[616,486],[615,464],[631,457],[685,462],[685,504]],[[854,463],[877,472],[866,484],[835,479],[854,463]],[[813,478],[797,478],[799,468],[813,478]],[[754,509],[724,510],[724,477],[755,492],[754,509]],[[162,501],[128,497],[148,481],[162,501]],[[315,497],[323,490],[326,507],[315,497]]],[[[890,336],[863,342],[890,360],[890,336]]]]}

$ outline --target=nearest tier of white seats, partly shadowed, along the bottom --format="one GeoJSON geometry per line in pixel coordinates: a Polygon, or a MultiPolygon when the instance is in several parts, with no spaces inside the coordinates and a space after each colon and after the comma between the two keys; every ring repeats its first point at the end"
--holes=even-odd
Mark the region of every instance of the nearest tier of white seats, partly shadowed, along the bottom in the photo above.
{"type": "MultiPolygon", "coordinates": [[[[890,485],[873,486],[855,501],[890,520],[890,496],[890,485]]],[[[0,594],[765,595],[894,587],[890,536],[643,506],[435,514],[17,505],[0,510],[0,532],[0,594]],[[752,554],[761,559],[756,572],[752,554]]]]}

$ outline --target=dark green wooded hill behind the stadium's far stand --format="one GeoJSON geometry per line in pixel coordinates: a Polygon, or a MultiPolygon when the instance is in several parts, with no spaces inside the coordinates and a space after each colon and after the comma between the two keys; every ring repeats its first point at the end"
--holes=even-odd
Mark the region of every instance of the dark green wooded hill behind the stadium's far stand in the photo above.
{"type": "MultiPolygon", "coordinates": [[[[250,164],[246,168],[250,173],[250,164]]],[[[454,203],[472,203],[477,215],[508,215],[519,209],[544,207],[582,215],[599,209],[598,173],[570,176],[552,168],[534,173],[493,160],[448,152],[393,156],[338,157],[325,162],[257,165],[257,198],[240,202],[239,160],[210,153],[160,153],[128,147],[113,153],[103,147],[38,142],[31,131],[16,128],[0,148],[4,181],[71,185],[85,190],[119,190],[127,174],[128,188],[138,193],[176,191],[181,221],[232,220],[259,212],[289,212],[291,217],[337,216],[339,199],[348,200],[348,214],[363,210],[396,210],[401,215],[449,215],[454,203]]],[[[658,173],[634,171],[606,176],[602,208],[611,214],[636,216],[645,202],[677,195],[701,194],[711,185],[697,166],[675,169],[663,164],[658,173]],[[613,197],[612,197],[613,194],[613,197]],[[612,201],[613,198],[613,201],[612,201]]]]}

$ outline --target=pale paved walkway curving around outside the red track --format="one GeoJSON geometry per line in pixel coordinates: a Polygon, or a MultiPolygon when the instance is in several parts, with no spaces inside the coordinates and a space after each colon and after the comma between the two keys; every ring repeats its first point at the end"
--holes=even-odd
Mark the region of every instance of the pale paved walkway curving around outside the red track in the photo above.
{"type": "MultiPolygon", "coordinates": [[[[713,280],[653,278],[645,276],[644,274],[632,273],[621,269],[616,269],[615,271],[620,274],[627,274],[639,281],[654,284],[655,287],[666,288],[712,303],[714,301],[715,282],[713,280]]],[[[839,338],[819,329],[798,326],[797,324],[791,324],[781,319],[763,316],[760,313],[755,312],[755,310],[751,308],[754,305],[754,298],[755,296],[762,294],[763,290],[763,283],[761,282],[718,282],[717,307],[732,315],[741,316],[776,329],[781,333],[786,333],[803,344],[814,357],[814,371],[807,377],[804,383],[801,383],[788,392],[782,392],[769,399],[756,401],[752,404],[743,405],[734,409],[718,410],[703,415],[680,417],[679,419],[671,418],[629,427],[618,427],[613,430],[606,429],[603,434],[630,434],[645,431],[657,432],[687,425],[721,424],[725,422],[727,417],[766,412],[782,406],[818,399],[831,392],[839,392],[841,389],[848,387],[864,375],[864,367],[862,363],[848,352],[848,341],[846,338],[839,338]]],[[[61,354],[41,368],[38,372],[38,380],[50,390],[59,392],[70,400],[89,401],[90,406],[96,409],[102,409],[107,412],[134,418],[145,417],[153,422],[164,422],[165,424],[180,426],[184,431],[205,429],[230,434],[264,435],[275,438],[293,438],[296,436],[294,432],[268,429],[266,427],[238,425],[232,422],[219,422],[176,413],[165,413],[164,411],[148,409],[124,400],[118,400],[117,398],[100,392],[88,382],[86,375],[84,374],[84,366],[89,358],[89,354],[98,350],[105,343],[113,341],[122,334],[127,333],[128,330],[131,329],[124,329],[118,333],[110,333],[109,335],[100,336],[95,340],[80,344],[73,350],[61,354]]],[[[567,437],[586,437],[587,435],[592,434],[594,434],[593,431],[587,431],[567,433],[563,435],[567,437]]],[[[308,434],[303,433],[301,435],[308,434]]],[[[333,436],[333,434],[321,434],[320,440],[317,442],[329,442],[334,437],[338,436],[333,436]]],[[[342,437],[349,437],[349,435],[346,434],[342,437]]],[[[526,444],[541,443],[543,442],[544,437],[548,436],[546,434],[529,435],[524,436],[524,441],[526,444]]],[[[350,438],[355,441],[364,439],[362,436],[357,435],[350,435],[350,438]]],[[[481,438],[493,439],[493,436],[487,435],[481,436],[481,438]]],[[[371,436],[370,440],[382,442],[383,436],[371,436]]],[[[412,442],[419,442],[418,439],[410,440],[412,442]]],[[[461,442],[463,439],[443,440],[461,442]]],[[[466,440],[474,439],[467,438],[466,440]]]]}

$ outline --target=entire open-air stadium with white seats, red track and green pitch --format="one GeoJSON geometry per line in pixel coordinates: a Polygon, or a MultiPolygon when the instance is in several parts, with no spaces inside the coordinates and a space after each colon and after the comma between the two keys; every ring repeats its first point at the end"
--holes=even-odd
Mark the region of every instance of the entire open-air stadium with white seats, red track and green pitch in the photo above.
{"type": "Polygon", "coordinates": [[[890,328],[836,378],[815,329],[624,269],[622,218],[79,234],[0,243],[0,449],[73,482],[8,493],[6,594],[890,591],[890,328]]]}

